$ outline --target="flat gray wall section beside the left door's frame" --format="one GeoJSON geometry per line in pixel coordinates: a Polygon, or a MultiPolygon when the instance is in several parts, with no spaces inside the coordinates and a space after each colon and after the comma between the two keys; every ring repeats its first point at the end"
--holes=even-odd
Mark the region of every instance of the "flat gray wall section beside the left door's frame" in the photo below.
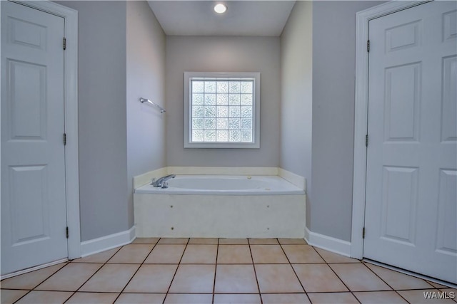
{"type": "Polygon", "coordinates": [[[126,2],[58,3],[79,11],[79,208],[81,241],[87,241],[130,228],[126,2]]]}

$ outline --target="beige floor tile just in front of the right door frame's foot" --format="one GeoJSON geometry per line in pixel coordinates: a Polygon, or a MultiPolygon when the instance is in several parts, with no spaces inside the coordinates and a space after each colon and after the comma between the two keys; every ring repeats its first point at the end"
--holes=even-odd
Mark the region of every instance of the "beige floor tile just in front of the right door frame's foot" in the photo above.
{"type": "Polygon", "coordinates": [[[329,264],[351,291],[391,290],[363,263],[329,264]]]}

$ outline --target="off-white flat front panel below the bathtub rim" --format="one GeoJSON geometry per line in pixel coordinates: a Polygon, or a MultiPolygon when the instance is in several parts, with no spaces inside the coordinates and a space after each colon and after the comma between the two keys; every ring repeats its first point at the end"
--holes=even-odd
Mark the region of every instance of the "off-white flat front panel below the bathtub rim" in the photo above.
{"type": "Polygon", "coordinates": [[[136,236],[143,238],[303,239],[304,194],[134,194],[136,236]]]}

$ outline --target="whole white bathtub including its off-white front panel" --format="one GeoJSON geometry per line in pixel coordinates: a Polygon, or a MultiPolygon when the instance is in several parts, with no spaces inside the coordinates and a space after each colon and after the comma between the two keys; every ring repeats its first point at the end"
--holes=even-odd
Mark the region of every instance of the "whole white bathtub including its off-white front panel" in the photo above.
{"type": "Polygon", "coordinates": [[[134,191],[137,237],[303,238],[306,195],[278,176],[181,175],[134,191]]]}

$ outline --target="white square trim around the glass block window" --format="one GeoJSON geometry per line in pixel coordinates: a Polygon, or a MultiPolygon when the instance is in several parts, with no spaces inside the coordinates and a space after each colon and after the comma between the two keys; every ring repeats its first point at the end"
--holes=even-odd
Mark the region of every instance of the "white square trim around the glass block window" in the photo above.
{"type": "Polygon", "coordinates": [[[257,72],[184,72],[184,148],[260,148],[260,73],[257,72]],[[190,142],[190,79],[191,78],[254,78],[253,142],[190,142]]]}

